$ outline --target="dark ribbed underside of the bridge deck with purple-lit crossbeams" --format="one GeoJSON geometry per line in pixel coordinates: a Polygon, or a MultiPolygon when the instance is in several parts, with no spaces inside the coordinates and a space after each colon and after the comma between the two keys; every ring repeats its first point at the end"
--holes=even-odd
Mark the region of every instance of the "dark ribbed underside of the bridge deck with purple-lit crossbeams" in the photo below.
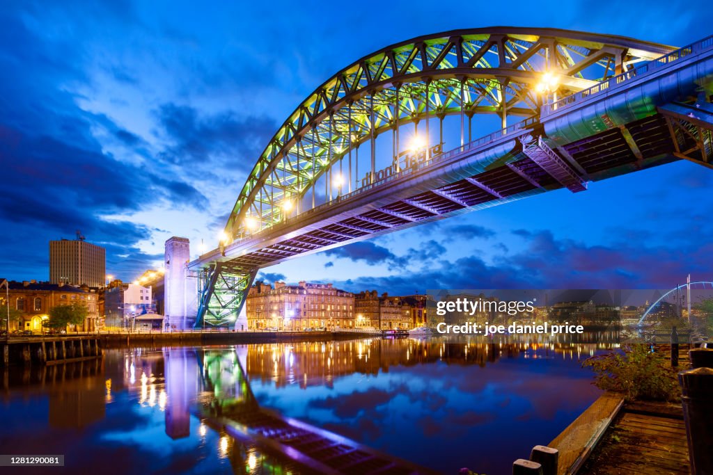
{"type": "MultiPolygon", "coordinates": [[[[667,123],[660,114],[630,122],[625,127],[612,127],[562,148],[575,161],[571,165],[582,169],[586,178],[595,181],[660,165],[672,160],[671,154],[674,151],[667,123]],[[625,133],[631,137],[628,142],[625,133]]],[[[250,251],[232,259],[230,265],[245,271],[266,267],[334,244],[413,226],[419,221],[431,221],[467,209],[492,206],[520,194],[563,187],[519,150],[513,150],[511,155],[514,160],[511,159],[507,164],[503,160],[498,162],[500,166],[472,177],[250,251]]],[[[563,160],[569,160],[565,154],[559,155],[563,160]]]]}

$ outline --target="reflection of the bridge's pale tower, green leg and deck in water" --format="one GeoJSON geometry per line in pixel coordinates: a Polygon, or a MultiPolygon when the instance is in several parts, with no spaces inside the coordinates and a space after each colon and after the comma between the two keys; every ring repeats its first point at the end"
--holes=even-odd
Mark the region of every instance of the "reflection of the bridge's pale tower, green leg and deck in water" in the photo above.
{"type": "MultiPolygon", "coordinates": [[[[260,407],[242,369],[239,351],[247,353],[247,348],[195,350],[200,375],[198,394],[195,395],[198,403],[196,412],[206,424],[232,437],[232,451],[247,454],[242,444],[257,444],[272,457],[284,460],[290,466],[323,474],[431,473],[429,469],[260,407]]],[[[183,393],[174,400],[171,392],[174,388],[179,393],[180,388],[188,388],[183,383],[185,378],[190,380],[191,377],[188,365],[193,361],[193,355],[190,353],[194,352],[179,350],[166,354],[166,380],[172,400],[166,412],[167,432],[169,427],[175,427],[175,422],[181,429],[188,428],[184,422],[189,417],[185,402],[190,395],[186,397],[183,393]],[[178,385],[171,382],[174,368],[178,374],[178,385]],[[177,403],[175,409],[178,410],[174,410],[174,403],[177,403]]],[[[259,348],[254,353],[264,355],[265,348],[259,348]]],[[[229,442],[225,440],[228,446],[229,442]]],[[[228,447],[225,450],[228,451],[228,447]]],[[[244,462],[241,459],[241,466],[244,462]]]]}

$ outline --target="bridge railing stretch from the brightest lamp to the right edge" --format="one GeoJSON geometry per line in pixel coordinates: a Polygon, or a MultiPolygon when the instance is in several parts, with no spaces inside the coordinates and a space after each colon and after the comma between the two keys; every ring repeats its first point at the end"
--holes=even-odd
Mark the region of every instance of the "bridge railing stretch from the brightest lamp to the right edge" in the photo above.
{"type": "Polygon", "coordinates": [[[555,112],[555,110],[559,110],[570,104],[578,103],[580,100],[584,100],[592,95],[617,88],[618,86],[637,78],[637,76],[649,73],[650,71],[654,71],[658,68],[662,68],[670,63],[675,63],[690,54],[700,53],[701,51],[705,51],[711,47],[713,47],[713,35],[703,38],[700,41],[696,41],[688,46],[684,46],[683,48],[671,51],[660,58],[656,58],[655,60],[642,64],[641,66],[632,68],[629,71],[612,76],[611,78],[603,80],[601,83],[597,83],[590,88],[580,90],[578,93],[565,95],[565,97],[555,100],[552,103],[545,104],[540,109],[540,115],[549,115],[555,112]]]}

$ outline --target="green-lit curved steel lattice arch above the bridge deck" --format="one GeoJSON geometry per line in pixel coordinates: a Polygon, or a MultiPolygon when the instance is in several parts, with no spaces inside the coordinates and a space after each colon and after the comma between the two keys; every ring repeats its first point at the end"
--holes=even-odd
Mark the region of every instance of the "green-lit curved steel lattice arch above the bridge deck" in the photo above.
{"type": "Polygon", "coordinates": [[[460,114],[462,142],[464,117],[498,114],[504,125],[508,115],[537,115],[536,85],[545,78],[555,77],[557,93],[568,95],[673,49],[620,36],[493,27],[376,51],[325,81],[279,127],[242,187],[225,243],[305,211],[292,203],[304,202],[319,177],[369,141],[373,179],[374,142],[383,132],[394,134],[396,155],[401,125],[460,114]]]}

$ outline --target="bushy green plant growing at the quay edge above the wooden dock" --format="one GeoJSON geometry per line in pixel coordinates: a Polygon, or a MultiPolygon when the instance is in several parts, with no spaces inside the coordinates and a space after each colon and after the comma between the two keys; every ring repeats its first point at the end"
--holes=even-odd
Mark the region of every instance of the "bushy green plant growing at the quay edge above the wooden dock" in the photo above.
{"type": "Polygon", "coordinates": [[[646,345],[595,355],[583,366],[593,368],[597,387],[621,392],[630,401],[675,401],[680,397],[677,370],[664,355],[650,353],[646,345]]]}

